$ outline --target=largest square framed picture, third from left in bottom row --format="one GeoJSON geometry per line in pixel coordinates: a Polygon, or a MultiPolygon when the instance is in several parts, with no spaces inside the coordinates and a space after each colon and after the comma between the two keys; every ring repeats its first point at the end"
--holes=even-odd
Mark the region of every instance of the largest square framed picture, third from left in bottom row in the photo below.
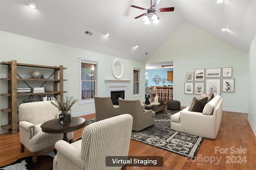
{"type": "Polygon", "coordinates": [[[213,93],[214,96],[220,95],[220,78],[206,79],[206,94],[213,93]]]}

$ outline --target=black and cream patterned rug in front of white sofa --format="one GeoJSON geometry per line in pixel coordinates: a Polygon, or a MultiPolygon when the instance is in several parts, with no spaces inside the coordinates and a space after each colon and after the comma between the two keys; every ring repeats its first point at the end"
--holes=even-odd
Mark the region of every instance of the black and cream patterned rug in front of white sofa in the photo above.
{"type": "MultiPolygon", "coordinates": [[[[131,139],[194,159],[204,138],[170,129],[170,116],[178,111],[180,110],[156,113],[155,125],[139,133],[132,131],[131,139]]],[[[87,124],[91,124],[96,119],[86,121],[87,124]]]]}

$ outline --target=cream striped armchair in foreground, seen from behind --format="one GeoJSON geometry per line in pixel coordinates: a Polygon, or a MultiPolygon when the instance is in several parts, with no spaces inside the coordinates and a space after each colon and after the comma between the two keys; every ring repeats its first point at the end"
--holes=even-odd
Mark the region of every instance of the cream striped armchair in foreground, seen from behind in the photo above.
{"type": "Polygon", "coordinates": [[[106,157],[128,156],[131,134],[129,114],[92,123],[84,128],[81,140],[55,144],[53,170],[119,170],[124,164],[106,166],[106,157]]]}

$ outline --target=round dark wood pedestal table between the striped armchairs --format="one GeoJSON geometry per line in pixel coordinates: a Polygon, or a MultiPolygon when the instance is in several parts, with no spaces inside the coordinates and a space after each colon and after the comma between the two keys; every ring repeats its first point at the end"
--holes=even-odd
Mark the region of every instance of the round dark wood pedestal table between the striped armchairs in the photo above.
{"type": "Polygon", "coordinates": [[[59,119],[52,119],[41,125],[45,133],[63,133],[63,140],[68,142],[67,133],[81,129],[86,125],[86,119],[82,117],[71,117],[70,123],[59,123],[59,119]]]}

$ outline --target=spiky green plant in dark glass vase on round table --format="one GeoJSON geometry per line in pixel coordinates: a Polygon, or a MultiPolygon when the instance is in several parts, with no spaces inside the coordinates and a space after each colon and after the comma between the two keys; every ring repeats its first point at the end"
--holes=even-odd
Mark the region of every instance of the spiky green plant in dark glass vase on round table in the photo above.
{"type": "Polygon", "coordinates": [[[54,98],[51,103],[59,109],[59,123],[69,123],[71,121],[71,107],[78,101],[73,97],[66,96],[66,100],[60,97],[54,98]]]}

